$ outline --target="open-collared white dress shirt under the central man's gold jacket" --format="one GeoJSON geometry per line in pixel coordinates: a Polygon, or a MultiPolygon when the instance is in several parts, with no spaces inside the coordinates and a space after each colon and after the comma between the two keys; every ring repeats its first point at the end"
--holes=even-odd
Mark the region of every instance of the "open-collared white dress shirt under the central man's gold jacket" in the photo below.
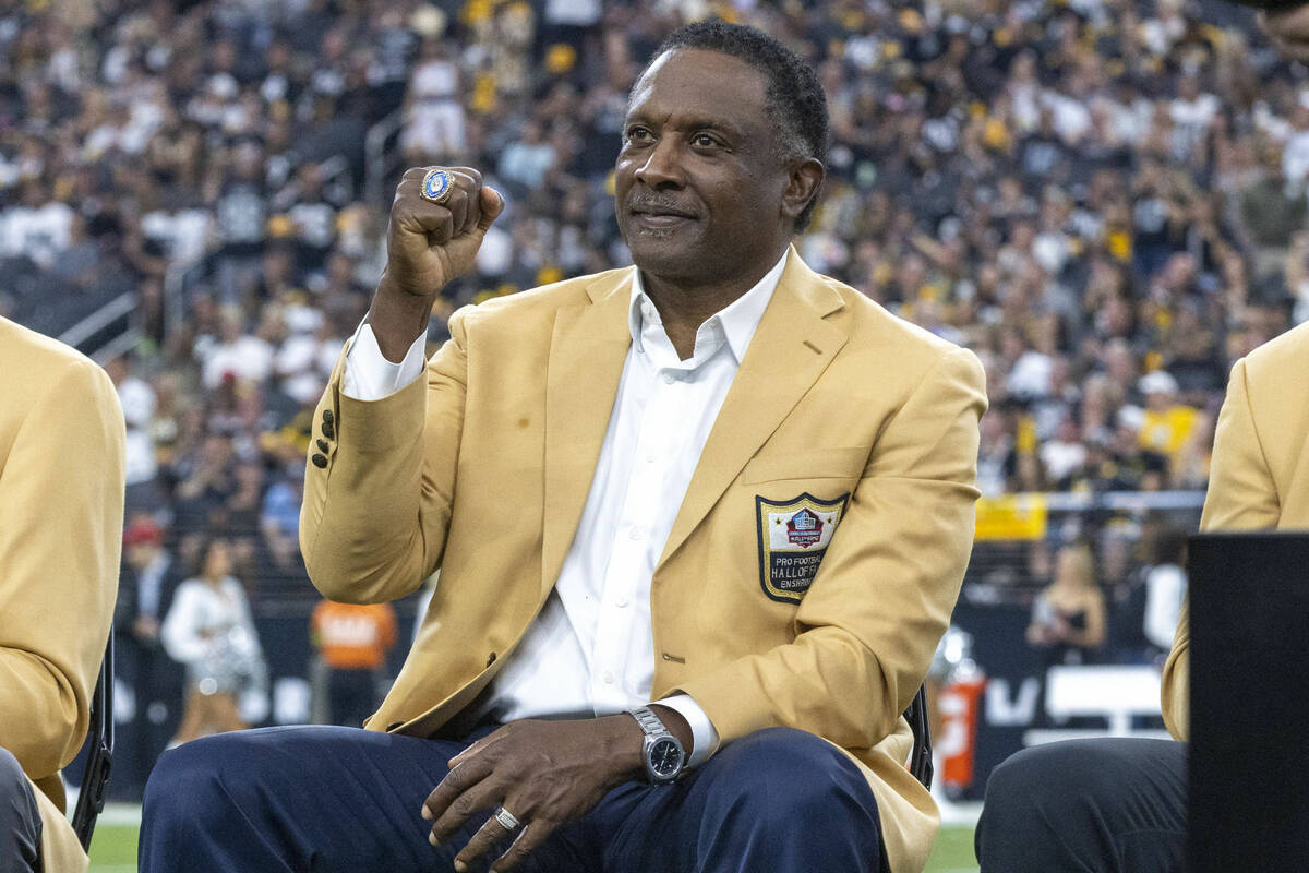
{"type": "MultiPolygon", "coordinates": [[[[781,277],[785,255],[759,283],[711,317],[679,360],[658,310],[635,274],[618,397],[577,533],[554,590],[492,681],[478,715],[497,721],[590,717],[649,703],[654,681],[651,579],[700,452],[746,348],[781,277]]],[[[387,361],[368,325],[346,357],[342,391],[378,401],[423,373],[425,336],[399,364],[387,361]]],[[[717,747],[717,732],[687,695],[658,700],[694,736],[690,766],[717,747]]]]}

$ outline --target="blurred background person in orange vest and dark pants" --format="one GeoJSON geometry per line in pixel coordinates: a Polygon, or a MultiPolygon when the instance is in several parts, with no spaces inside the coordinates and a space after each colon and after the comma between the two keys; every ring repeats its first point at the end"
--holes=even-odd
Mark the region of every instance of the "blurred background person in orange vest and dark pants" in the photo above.
{"type": "Polygon", "coordinates": [[[318,650],[314,669],[314,721],[361,728],[385,688],[386,653],[395,647],[390,603],[335,603],[314,607],[309,641],[318,650]]]}

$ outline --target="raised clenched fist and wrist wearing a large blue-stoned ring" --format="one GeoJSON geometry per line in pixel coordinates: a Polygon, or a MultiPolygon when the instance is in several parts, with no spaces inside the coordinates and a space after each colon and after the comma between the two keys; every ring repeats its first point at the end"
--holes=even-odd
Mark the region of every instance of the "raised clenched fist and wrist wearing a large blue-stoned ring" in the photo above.
{"type": "Polygon", "coordinates": [[[467,272],[487,228],[504,209],[499,191],[482,185],[469,166],[442,168],[450,192],[441,203],[423,196],[423,179],[435,168],[414,168],[395,188],[386,229],[386,272],[377,285],[368,322],[382,355],[399,361],[427,330],[441,289],[467,272]]]}

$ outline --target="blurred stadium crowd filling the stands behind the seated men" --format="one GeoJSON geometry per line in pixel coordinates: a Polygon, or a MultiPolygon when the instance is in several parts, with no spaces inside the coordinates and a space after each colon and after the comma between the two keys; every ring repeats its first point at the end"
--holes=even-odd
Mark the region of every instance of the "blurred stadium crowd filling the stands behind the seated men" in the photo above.
{"type": "MultiPolygon", "coordinates": [[[[819,69],[834,143],[797,245],[982,357],[986,495],[1204,487],[1228,368],[1309,317],[1306,71],[1223,4],[13,4],[0,314],[58,334],[139,292],[143,340],[109,364],[130,517],[190,573],[226,535],[257,613],[312,597],[309,415],[385,262],[398,171],[476,166],[508,195],[437,315],[630,263],[626,94],[706,14],[819,69]]],[[[1058,576],[1054,550],[1022,560],[1058,576]]]]}

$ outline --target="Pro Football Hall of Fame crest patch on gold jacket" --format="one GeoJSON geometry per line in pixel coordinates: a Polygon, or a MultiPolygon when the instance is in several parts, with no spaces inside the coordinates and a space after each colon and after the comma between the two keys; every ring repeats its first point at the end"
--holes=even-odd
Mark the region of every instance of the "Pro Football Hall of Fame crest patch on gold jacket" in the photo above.
{"type": "Polygon", "coordinates": [[[848,503],[850,493],[819,500],[805,492],[784,503],[755,496],[759,584],[764,594],[781,603],[800,602],[818,575],[848,503]]]}

